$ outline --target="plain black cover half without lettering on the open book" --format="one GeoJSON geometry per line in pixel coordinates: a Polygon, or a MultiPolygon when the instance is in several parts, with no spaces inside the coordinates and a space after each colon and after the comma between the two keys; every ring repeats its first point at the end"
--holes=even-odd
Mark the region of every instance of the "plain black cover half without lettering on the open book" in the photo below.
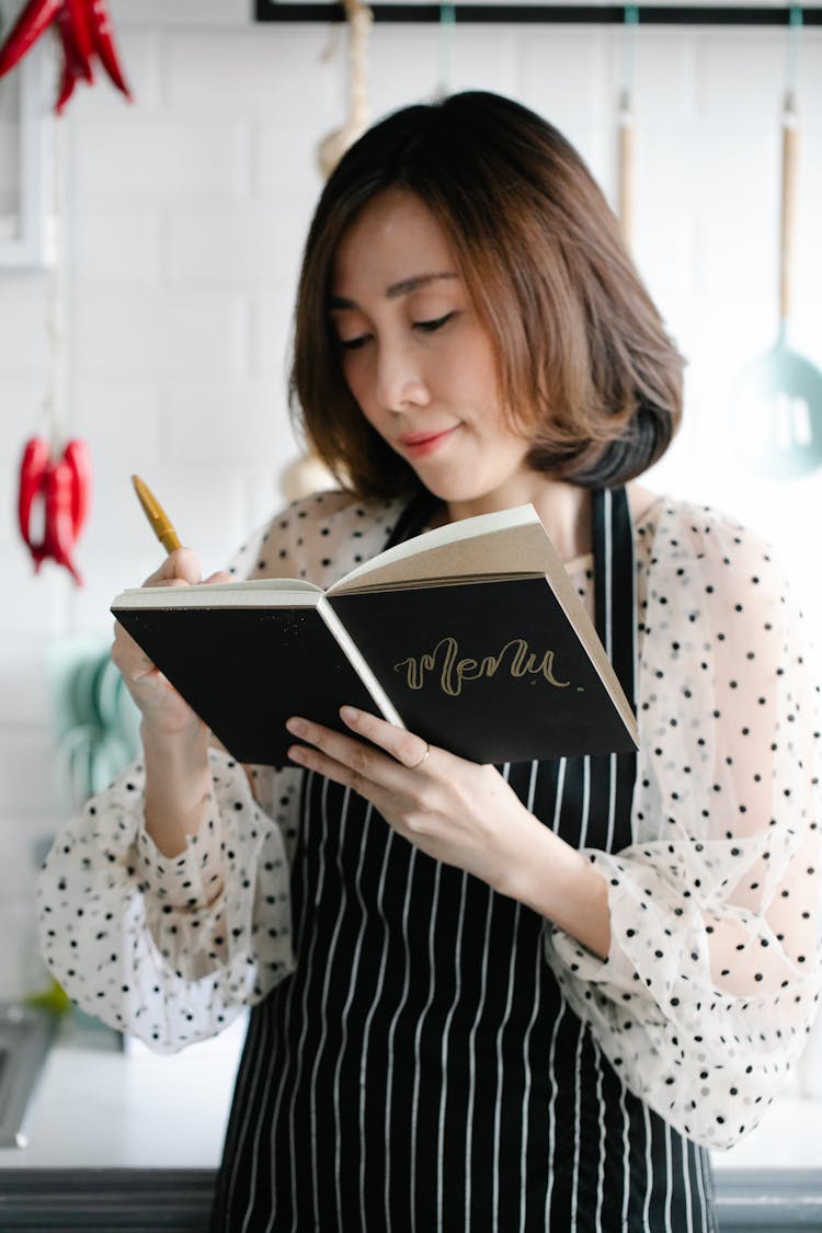
{"type": "Polygon", "coordinates": [[[238,762],[285,766],[291,715],[348,731],[343,703],[378,713],[314,607],[112,610],[238,762]]]}

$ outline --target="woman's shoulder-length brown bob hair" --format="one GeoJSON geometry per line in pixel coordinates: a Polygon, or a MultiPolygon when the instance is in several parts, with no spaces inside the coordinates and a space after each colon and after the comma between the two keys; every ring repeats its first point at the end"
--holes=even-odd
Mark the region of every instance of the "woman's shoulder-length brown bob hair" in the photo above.
{"type": "Polygon", "coordinates": [[[417,194],[451,243],[497,353],[503,404],[530,465],[611,487],[668,448],[683,359],[585,164],[556,128],[486,92],[394,112],[329,178],[296,308],[291,408],[319,457],[361,497],[421,487],[371,428],[341,372],[329,317],[338,244],[388,187],[417,194]]]}

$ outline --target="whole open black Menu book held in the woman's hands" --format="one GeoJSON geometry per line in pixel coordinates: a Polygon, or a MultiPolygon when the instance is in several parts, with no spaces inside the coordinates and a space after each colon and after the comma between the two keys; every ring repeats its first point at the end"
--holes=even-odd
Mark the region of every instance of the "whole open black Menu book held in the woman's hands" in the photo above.
{"type": "Polygon", "coordinates": [[[123,592],[112,612],[240,762],[343,703],[477,762],[636,746],[636,721],[531,506],[423,533],[328,592],[295,578],[123,592]]]}

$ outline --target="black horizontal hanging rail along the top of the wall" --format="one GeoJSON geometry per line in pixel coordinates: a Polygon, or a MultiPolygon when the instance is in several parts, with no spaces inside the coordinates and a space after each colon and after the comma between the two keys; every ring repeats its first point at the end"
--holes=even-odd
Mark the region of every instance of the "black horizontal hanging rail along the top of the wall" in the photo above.
{"type": "MultiPolygon", "coordinates": [[[[439,22],[444,5],[373,4],[375,21],[439,22]]],[[[451,20],[477,25],[507,22],[545,25],[625,23],[625,5],[616,4],[456,4],[447,5],[451,20]]],[[[636,5],[643,26],[787,26],[791,5],[636,5]]],[[[256,21],[344,21],[341,4],[299,4],[255,0],[256,21]]],[[[804,7],[805,26],[822,26],[822,7],[804,7]]]]}

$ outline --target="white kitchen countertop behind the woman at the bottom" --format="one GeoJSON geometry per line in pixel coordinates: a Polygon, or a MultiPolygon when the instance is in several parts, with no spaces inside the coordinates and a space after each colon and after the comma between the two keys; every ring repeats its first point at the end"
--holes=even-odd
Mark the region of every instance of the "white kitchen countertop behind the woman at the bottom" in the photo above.
{"type": "MultiPolygon", "coordinates": [[[[58,1038],[35,1091],[28,1145],[2,1169],[213,1169],[219,1161],[245,1023],[175,1054],[58,1038]]],[[[789,1089],[717,1169],[822,1166],[822,1100],[789,1089]]]]}

